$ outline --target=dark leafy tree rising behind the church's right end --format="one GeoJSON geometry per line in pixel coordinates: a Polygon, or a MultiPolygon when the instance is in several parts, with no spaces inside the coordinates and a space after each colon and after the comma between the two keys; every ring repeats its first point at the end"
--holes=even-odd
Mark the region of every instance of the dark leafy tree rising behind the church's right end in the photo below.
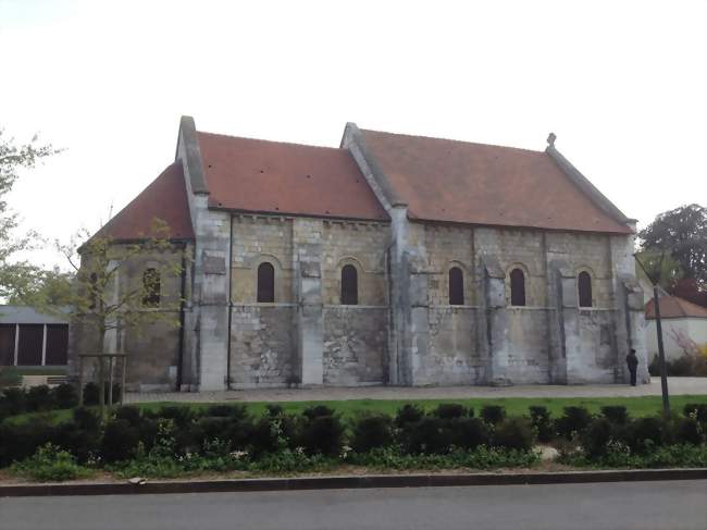
{"type": "Polygon", "coordinates": [[[665,251],[699,288],[707,285],[707,208],[686,205],[666,211],[638,233],[642,250],[665,251]]]}

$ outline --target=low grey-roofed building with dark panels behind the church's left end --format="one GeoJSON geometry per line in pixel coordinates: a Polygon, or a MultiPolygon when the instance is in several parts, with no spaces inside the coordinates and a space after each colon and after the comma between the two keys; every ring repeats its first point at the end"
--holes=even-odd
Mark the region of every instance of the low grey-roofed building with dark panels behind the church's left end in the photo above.
{"type": "Polygon", "coordinates": [[[49,373],[65,374],[67,345],[69,318],[27,306],[0,306],[0,368],[21,368],[23,384],[51,382],[49,373]]]}

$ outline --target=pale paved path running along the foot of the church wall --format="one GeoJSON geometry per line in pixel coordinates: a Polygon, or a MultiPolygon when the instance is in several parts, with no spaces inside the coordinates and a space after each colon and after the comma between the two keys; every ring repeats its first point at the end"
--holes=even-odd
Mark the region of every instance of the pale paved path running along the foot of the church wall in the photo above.
{"type": "MultiPolygon", "coordinates": [[[[671,395],[707,394],[707,378],[668,378],[671,395]]],[[[364,386],[319,389],[261,389],[200,393],[127,394],[127,403],[144,402],[309,402],[318,399],[451,399],[464,397],[630,397],[659,396],[660,378],[650,384],[494,386],[364,386]]]]}

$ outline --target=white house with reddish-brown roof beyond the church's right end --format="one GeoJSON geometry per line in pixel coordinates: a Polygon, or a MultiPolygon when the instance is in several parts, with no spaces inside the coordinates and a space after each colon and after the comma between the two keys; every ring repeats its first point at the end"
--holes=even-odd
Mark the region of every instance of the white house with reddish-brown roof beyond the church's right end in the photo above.
{"type": "MultiPolygon", "coordinates": [[[[677,296],[660,297],[660,320],[666,359],[674,360],[684,354],[684,345],[693,341],[707,344],[707,308],[677,296]]],[[[648,360],[658,355],[656,308],[653,299],[646,304],[646,348],[648,360]]]]}

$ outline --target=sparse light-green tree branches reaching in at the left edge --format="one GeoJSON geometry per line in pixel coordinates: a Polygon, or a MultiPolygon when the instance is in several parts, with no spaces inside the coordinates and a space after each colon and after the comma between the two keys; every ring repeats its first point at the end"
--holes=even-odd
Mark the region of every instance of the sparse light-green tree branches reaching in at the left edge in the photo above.
{"type": "Polygon", "coordinates": [[[39,271],[27,261],[13,259],[18,251],[29,247],[30,236],[15,234],[17,213],[7,201],[21,170],[32,169],[41,159],[60,152],[49,144],[38,145],[37,141],[35,136],[27,144],[17,144],[0,128],[0,298],[13,293],[17,284],[27,282],[27,275],[36,275],[39,271]]]}

